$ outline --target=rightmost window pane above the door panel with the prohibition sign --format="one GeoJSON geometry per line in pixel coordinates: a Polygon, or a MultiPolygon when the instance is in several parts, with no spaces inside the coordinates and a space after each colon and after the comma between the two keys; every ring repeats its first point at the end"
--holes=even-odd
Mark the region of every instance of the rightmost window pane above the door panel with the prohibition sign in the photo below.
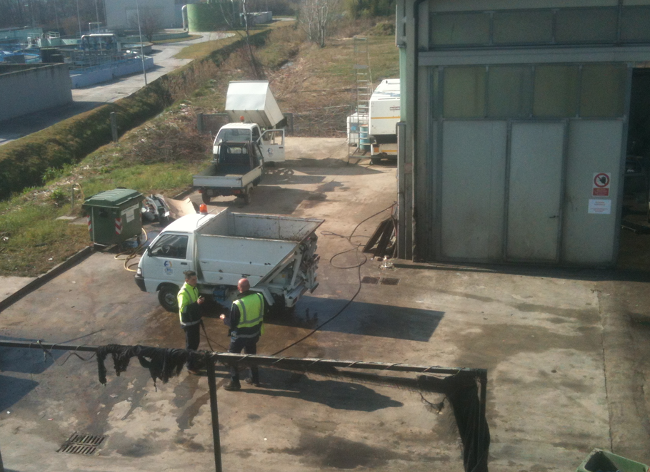
{"type": "Polygon", "coordinates": [[[627,67],[624,64],[589,64],[582,67],[580,116],[623,116],[627,67]]]}

